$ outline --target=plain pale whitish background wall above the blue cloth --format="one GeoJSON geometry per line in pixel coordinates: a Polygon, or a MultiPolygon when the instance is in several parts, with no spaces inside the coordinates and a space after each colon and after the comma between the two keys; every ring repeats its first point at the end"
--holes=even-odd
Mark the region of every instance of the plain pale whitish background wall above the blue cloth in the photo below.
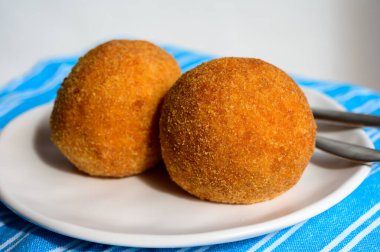
{"type": "Polygon", "coordinates": [[[115,36],[262,58],[380,90],[378,0],[0,0],[0,86],[115,36]]]}

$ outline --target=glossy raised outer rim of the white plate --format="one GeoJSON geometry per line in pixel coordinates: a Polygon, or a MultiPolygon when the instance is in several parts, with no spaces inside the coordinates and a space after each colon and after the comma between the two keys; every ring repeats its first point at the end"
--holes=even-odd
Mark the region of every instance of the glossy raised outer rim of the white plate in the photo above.
{"type": "MultiPolygon", "coordinates": [[[[319,91],[302,87],[303,91],[312,93],[316,96],[324,96],[334,103],[336,107],[341,110],[346,110],[338,102],[331,97],[319,91]]],[[[0,141],[4,132],[6,132],[14,120],[19,119],[22,115],[31,112],[35,109],[42,109],[43,107],[51,106],[51,103],[43,104],[32,109],[25,111],[10,121],[0,133],[0,141]]],[[[365,134],[363,130],[358,132],[365,142],[365,146],[374,148],[372,141],[365,134]]],[[[7,193],[6,188],[1,186],[0,183],[0,199],[1,202],[16,213],[18,216],[26,219],[27,221],[48,229],[50,231],[66,235],[69,237],[92,241],[102,244],[129,246],[140,248],[178,248],[178,247],[191,247],[191,246],[204,246],[212,244],[220,244],[226,242],[233,242],[253,238],[260,235],[267,234],[276,230],[287,228],[291,225],[306,221],[327,209],[335,206],[337,203],[351,194],[367,177],[370,173],[370,168],[366,165],[358,164],[358,170],[347,179],[340,187],[328,194],[326,197],[313,202],[297,211],[289,213],[275,219],[264,221],[257,224],[245,225],[240,227],[226,228],[215,231],[197,232],[189,234],[133,234],[133,233],[120,233],[113,231],[103,231],[96,228],[83,227],[71,223],[66,223],[54,218],[50,218],[40,214],[37,211],[28,209],[28,207],[12,198],[12,193],[7,193]]]]}

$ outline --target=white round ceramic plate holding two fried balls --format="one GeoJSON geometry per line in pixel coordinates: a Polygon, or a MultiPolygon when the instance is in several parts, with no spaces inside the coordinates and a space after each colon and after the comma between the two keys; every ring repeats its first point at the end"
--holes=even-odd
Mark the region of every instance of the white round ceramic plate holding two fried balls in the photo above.
{"type": "MultiPolygon", "coordinates": [[[[312,106],[342,109],[305,90],[312,106]]],[[[0,195],[24,218],[57,233],[105,244],[184,247],[259,236],[311,218],[337,204],[370,168],[315,152],[300,182],[280,197],[253,205],[198,200],[164,169],[124,179],[78,173],[49,141],[51,105],[12,121],[0,136],[0,195]]],[[[331,138],[373,147],[361,130],[321,126],[331,138]]]]}

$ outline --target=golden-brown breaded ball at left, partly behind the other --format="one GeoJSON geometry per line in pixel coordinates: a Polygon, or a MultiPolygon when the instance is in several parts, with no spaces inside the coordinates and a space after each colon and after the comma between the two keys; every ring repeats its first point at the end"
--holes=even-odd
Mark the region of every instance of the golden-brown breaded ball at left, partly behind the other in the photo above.
{"type": "Polygon", "coordinates": [[[159,107],[179,76],[175,59],[149,42],[97,46],[79,59],[58,92],[53,143],[90,175],[141,173],[161,160],[159,107]]]}

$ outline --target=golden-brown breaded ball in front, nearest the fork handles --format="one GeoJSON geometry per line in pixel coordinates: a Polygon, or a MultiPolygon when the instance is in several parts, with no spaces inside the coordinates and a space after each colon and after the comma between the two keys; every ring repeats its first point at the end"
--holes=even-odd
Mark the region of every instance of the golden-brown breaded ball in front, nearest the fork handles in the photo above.
{"type": "Polygon", "coordinates": [[[161,111],[171,179],[205,200],[248,204],[294,186],[315,144],[305,95],[259,59],[221,58],[185,73],[161,111]]]}

